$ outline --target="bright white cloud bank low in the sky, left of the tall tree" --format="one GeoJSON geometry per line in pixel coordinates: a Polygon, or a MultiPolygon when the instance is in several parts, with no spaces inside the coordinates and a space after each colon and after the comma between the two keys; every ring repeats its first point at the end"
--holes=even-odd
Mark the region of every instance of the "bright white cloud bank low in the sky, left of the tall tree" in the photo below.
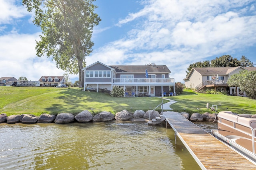
{"type": "MultiPolygon", "coordinates": [[[[65,73],[56,68],[54,61],[45,56],[36,56],[35,39],[38,34],[10,33],[0,36],[0,77],[25,76],[28,80],[39,80],[41,76],[60,76],[65,73]]],[[[70,75],[70,78],[75,77],[70,75]]]]}

